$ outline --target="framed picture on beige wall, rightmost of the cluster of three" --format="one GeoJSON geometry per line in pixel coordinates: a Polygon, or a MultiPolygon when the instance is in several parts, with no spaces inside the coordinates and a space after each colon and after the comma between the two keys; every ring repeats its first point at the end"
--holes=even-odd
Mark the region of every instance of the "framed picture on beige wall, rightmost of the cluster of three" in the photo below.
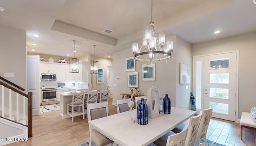
{"type": "Polygon", "coordinates": [[[156,81],[156,64],[141,65],[141,81],[156,81]]]}

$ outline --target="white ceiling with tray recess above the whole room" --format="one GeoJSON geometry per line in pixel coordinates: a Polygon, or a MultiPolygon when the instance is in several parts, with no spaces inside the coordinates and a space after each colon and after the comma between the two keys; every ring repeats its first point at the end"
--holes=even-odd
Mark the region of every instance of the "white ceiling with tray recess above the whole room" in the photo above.
{"type": "MultiPolygon", "coordinates": [[[[141,43],[151,21],[151,0],[0,0],[0,7],[0,25],[25,30],[29,52],[64,57],[73,55],[72,40],[76,57],[93,54],[94,44],[96,56],[112,57],[141,43]]],[[[256,31],[255,14],[254,0],[153,1],[157,34],[192,44],[256,31]]]]}

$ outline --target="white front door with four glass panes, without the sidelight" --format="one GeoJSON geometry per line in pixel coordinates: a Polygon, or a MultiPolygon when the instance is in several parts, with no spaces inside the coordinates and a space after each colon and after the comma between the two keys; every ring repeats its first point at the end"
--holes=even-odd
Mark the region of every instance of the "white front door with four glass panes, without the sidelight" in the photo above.
{"type": "Polygon", "coordinates": [[[235,121],[236,52],[204,56],[204,108],[212,117],[235,121]]]}

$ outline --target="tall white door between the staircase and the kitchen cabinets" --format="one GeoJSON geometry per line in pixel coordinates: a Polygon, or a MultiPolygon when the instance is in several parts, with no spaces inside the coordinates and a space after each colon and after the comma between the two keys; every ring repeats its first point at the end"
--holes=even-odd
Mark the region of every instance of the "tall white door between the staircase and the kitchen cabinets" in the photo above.
{"type": "Polygon", "coordinates": [[[39,104],[39,55],[27,56],[28,92],[32,92],[32,114],[38,115],[39,104]]]}

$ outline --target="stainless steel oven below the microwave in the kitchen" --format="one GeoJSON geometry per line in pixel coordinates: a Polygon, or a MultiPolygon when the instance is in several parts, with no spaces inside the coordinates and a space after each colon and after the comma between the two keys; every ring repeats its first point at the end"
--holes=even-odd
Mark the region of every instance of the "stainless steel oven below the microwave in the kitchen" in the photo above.
{"type": "Polygon", "coordinates": [[[45,88],[42,89],[42,105],[50,105],[57,103],[57,89],[45,88]]]}

